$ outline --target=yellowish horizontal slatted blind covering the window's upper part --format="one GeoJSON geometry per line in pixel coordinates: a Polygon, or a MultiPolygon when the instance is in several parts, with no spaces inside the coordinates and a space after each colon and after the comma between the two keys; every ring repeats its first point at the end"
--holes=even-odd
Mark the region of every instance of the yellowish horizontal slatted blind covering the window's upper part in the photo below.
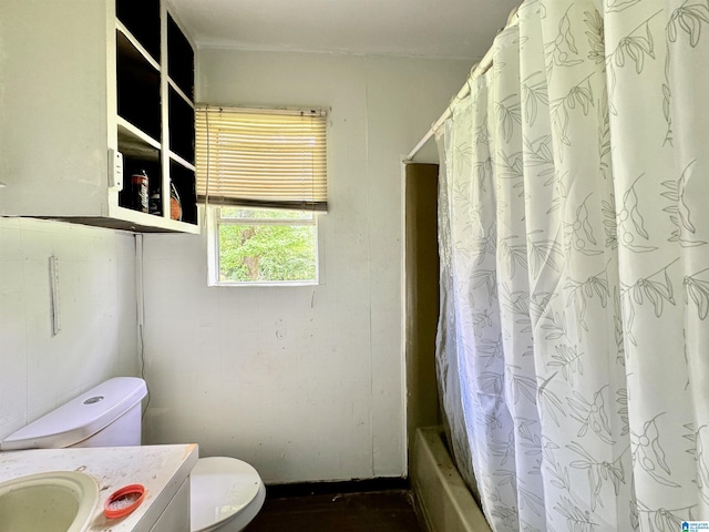
{"type": "Polygon", "coordinates": [[[325,111],[201,105],[195,114],[201,202],[327,211],[325,111]]]}

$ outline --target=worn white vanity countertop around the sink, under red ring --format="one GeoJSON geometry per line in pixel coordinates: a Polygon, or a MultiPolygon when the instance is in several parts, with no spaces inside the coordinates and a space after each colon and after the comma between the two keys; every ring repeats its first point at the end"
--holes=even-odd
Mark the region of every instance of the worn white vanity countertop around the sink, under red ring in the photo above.
{"type": "Polygon", "coordinates": [[[147,532],[197,463],[194,443],[177,446],[32,449],[0,452],[0,482],[48,471],[83,471],[99,483],[99,504],[86,532],[147,532]],[[103,504],[127,484],[143,484],[143,503],[110,520],[103,504]]]}

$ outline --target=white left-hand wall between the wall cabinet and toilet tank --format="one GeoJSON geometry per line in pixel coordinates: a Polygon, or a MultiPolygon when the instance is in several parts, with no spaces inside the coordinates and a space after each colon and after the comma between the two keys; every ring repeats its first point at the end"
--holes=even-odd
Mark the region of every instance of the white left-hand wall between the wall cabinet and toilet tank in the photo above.
{"type": "Polygon", "coordinates": [[[135,315],[133,235],[0,217],[0,439],[106,378],[136,375],[135,315]]]}

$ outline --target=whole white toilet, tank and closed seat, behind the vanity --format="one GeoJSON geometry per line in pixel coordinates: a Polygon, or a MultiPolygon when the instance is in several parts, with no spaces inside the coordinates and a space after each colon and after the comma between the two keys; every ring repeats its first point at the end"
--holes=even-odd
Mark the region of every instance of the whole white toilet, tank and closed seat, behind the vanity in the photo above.
{"type": "MultiPolygon", "coordinates": [[[[116,377],[8,436],[3,451],[141,444],[143,379],[116,377]]],[[[237,532],[258,513],[266,488],[235,458],[201,458],[189,475],[192,532],[237,532]]]]}

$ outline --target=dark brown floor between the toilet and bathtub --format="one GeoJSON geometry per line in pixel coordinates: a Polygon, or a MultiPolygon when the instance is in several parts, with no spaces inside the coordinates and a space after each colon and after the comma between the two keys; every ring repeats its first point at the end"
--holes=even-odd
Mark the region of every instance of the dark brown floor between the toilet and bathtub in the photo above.
{"type": "Polygon", "coordinates": [[[423,532],[407,490],[267,498],[244,532],[423,532]]]}

